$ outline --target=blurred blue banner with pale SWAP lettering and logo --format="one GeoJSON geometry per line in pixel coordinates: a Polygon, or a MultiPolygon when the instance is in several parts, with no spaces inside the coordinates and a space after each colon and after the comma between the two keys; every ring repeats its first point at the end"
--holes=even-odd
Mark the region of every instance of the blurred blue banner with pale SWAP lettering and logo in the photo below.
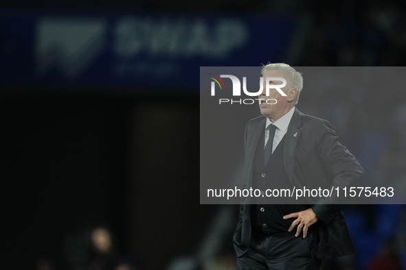
{"type": "Polygon", "coordinates": [[[0,80],[187,88],[200,66],[282,61],[296,25],[286,16],[2,14],[0,80]]]}

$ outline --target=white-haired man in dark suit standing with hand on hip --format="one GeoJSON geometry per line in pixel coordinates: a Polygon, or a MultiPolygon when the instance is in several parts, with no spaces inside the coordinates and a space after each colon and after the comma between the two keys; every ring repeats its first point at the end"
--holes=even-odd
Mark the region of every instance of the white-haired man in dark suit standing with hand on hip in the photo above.
{"type": "MultiPolygon", "coordinates": [[[[286,79],[281,88],[286,97],[275,88],[266,96],[264,85],[259,104],[263,116],[245,127],[245,187],[258,188],[263,195],[268,188],[361,184],[361,165],[339,143],[330,123],[295,108],[302,75],[287,64],[268,64],[262,76],[264,84],[266,77],[286,79]]],[[[240,204],[234,234],[238,270],[313,270],[324,258],[354,253],[341,211],[342,195],[321,197],[315,204],[269,204],[261,198],[244,197],[240,204]]]]}

